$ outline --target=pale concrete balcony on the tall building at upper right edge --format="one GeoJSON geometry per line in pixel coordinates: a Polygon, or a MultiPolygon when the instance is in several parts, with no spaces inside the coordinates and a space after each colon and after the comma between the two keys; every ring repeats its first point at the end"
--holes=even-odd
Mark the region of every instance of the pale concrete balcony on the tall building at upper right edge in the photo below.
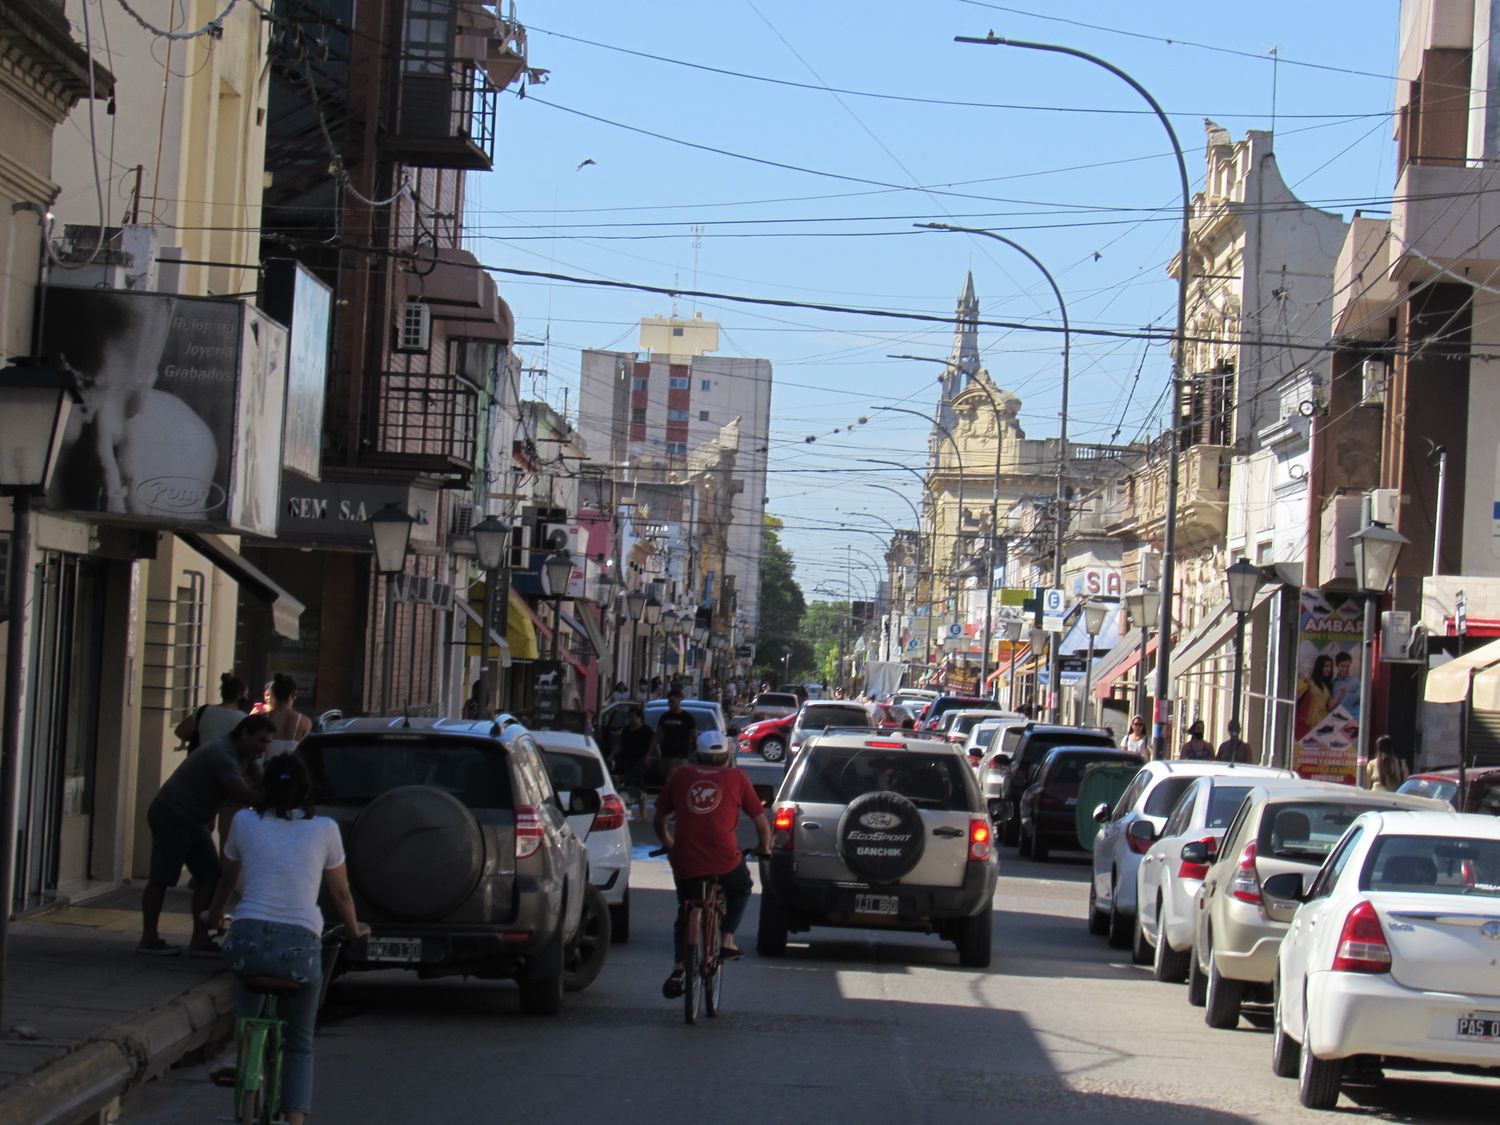
{"type": "Polygon", "coordinates": [[[1390,207],[1392,279],[1422,280],[1438,267],[1460,278],[1500,270],[1497,189],[1496,168],[1408,164],[1390,207]]]}

